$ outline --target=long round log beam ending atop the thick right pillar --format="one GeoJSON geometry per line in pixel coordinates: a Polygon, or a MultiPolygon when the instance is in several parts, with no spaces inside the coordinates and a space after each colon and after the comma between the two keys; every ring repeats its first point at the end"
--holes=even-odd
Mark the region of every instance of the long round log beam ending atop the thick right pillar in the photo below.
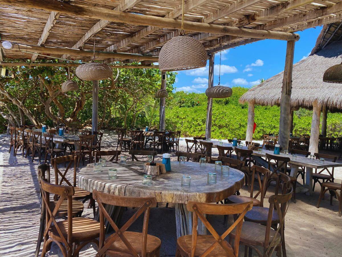
{"type": "MultiPolygon", "coordinates": [[[[63,3],[54,0],[0,0],[1,4],[14,5],[26,8],[36,8],[46,11],[56,11],[65,14],[88,17],[92,19],[108,20],[112,22],[122,22],[135,25],[157,26],[161,28],[180,29],[182,21],[169,18],[162,18],[151,15],[140,15],[128,12],[112,11],[99,7],[88,7],[63,3]]],[[[241,36],[249,38],[299,40],[299,35],[277,32],[254,30],[247,28],[237,28],[222,25],[214,25],[199,22],[184,21],[184,29],[194,32],[207,32],[214,34],[241,36]]]]}

